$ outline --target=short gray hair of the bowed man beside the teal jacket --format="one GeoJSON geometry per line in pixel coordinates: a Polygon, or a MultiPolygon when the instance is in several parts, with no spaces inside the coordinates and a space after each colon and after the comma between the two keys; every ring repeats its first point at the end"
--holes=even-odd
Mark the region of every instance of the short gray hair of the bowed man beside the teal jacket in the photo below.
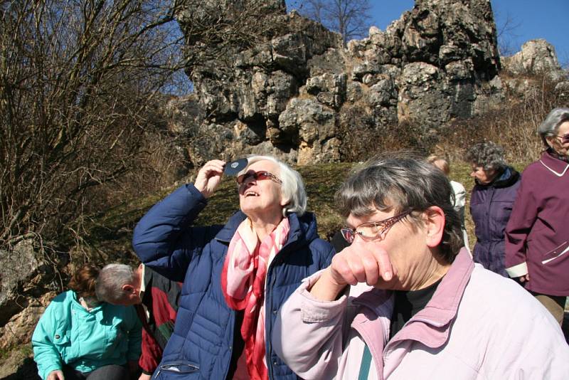
{"type": "Polygon", "coordinates": [[[97,277],[95,292],[101,301],[117,304],[126,294],[122,289],[124,284],[134,283],[134,270],[129,265],[108,264],[102,268],[97,277]]]}

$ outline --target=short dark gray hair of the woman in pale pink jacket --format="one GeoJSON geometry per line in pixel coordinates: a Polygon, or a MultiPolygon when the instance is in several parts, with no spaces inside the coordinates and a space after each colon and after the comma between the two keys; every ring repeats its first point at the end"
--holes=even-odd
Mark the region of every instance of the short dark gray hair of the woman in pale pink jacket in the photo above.
{"type": "Polygon", "coordinates": [[[368,216],[376,210],[395,209],[421,223],[420,213],[438,206],[445,213],[445,228],[439,245],[442,259],[452,263],[462,240],[461,222],[451,203],[452,188],[437,167],[410,152],[393,152],[371,159],[352,174],[336,192],[342,216],[368,216]]]}

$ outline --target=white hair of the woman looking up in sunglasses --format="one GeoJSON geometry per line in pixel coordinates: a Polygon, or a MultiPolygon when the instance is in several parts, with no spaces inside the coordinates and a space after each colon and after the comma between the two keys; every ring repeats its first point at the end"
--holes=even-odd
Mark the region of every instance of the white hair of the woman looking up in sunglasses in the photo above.
{"type": "Polygon", "coordinates": [[[288,201],[282,210],[283,216],[286,216],[287,213],[297,213],[301,216],[307,209],[307,191],[304,190],[304,181],[302,181],[300,173],[276,157],[251,155],[248,157],[247,167],[240,171],[239,175],[245,173],[253,163],[259,161],[270,161],[279,166],[279,178],[282,181],[281,194],[288,201]]]}

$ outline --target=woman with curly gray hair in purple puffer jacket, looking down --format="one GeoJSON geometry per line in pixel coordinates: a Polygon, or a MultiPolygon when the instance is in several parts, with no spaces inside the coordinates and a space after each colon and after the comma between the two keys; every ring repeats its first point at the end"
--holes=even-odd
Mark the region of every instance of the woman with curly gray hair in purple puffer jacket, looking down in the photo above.
{"type": "Polygon", "coordinates": [[[504,230],[520,186],[520,175],[506,164],[504,149],[493,142],[474,144],[466,155],[474,188],[470,214],[474,221],[474,262],[508,277],[504,265],[504,230]]]}

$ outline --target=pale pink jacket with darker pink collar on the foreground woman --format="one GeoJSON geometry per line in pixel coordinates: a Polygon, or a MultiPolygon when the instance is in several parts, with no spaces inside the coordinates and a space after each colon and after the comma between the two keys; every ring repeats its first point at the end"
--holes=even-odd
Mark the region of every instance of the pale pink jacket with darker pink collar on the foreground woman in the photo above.
{"type": "Polygon", "coordinates": [[[307,290],[319,275],[285,302],[272,334],[275,352],[303,379],[357,379],[363,341],[373,357],[370,379],[569,379],[559,324],[513,280],[474,265],[465,249],[425,309],[389,342],[389,292],[363,284],[322,302],[307,290]]]}

